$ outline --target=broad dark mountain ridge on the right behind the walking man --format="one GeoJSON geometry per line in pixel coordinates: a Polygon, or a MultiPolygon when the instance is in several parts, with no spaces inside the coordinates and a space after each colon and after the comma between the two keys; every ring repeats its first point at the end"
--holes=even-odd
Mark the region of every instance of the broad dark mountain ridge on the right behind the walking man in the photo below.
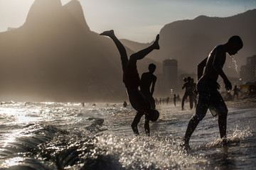
{"type": "MultiPolygon", "coordinates": [[[[178,60],[179,69],[195,72],[197,64],[206,58],[216,45],[224,44],[232,35],[240,35],[244,47],[238,52],[235,60],[240,67],[246,57],[256,54],[256,9],[226,18],[198,16],[193,20],[175,21],[166,24],[160,31],[161,50],[149,54],[158,62],[168,58],[178,60]]],[[[144,47],[143,43],[122,40],[131,50],[144,47]]],[[[225,72],[230,77],[239,77],[234,70],[235,64],[227,57],[225,72]]]]}

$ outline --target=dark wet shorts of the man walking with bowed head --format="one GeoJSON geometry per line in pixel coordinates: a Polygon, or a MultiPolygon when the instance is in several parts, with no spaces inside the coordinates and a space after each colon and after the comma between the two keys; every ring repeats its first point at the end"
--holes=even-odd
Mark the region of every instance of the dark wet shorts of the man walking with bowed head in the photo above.
{"type": "Polygon", "coordinates": [[[228,108],[218,89],[220,89],[220,85],[217,82],[208,79],[208,77],[199,79],[197,84],[197,91],[199,94],[198,105],[196,106],[196,113],[193,115],[193,119],[203,120],[208,108],[212,110],[211,113],[213,116],[218,113],[228,113],[228,108]]]}

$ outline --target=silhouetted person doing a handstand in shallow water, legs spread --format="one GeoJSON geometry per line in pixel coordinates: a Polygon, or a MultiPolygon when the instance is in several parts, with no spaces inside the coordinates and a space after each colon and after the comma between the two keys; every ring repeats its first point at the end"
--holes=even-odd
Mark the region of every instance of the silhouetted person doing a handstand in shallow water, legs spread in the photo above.
{"type": "Polygon", "coordinates": [[[132,54],[129,57],[129,60],[124,45],[122,45],[122,43],[114,35],[114,30],[107,30],[100,35],[110,37],[119,50],[122,62],[123,82],[127,89],[129,102],[137,111],[137,115],[135,115],[132,122],[132,130],[135,135],[139,135],[137,125],[142,116],[145,115],[144,129],[146,131],[146,135],[149,136],[149,121],[156,121],[159,118],[159,112],[151,108],[151,104],[147,100],[146,96],[139,91],[140,79],[137,71],[137,60],[142,60],[146,55],[149,54],[149,52],[153,50],[159,50],[159,35],[156,35],[156,40],[152,45],[146,47],[144,50],[132,54]]]}

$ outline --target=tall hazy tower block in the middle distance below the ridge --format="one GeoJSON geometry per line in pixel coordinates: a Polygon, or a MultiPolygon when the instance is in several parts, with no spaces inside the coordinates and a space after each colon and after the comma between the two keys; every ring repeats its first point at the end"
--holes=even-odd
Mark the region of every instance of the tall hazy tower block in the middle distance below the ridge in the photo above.
{"type": "Polygon", "coordinates": [[[163,83],[165,93],[171,93],[171,89],[176,89],[178,84],[178,61],[174,59],[163,62],[163,83]]]}

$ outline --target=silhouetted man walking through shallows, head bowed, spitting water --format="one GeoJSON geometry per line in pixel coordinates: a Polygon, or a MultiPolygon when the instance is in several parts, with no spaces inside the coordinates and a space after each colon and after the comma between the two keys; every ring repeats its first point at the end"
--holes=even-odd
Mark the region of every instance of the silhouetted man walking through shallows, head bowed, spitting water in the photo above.
{"type": "MultiPolygon", "coordinates": [[[[198,84],[196,86],[199,98],[196,107],[196,113],[188,123],[182,146],[189,148],[188,142],[198,123],[203,120],[208,108],[213,109],[218,114],[218,127],[220,130],[220,138],[223,144],[226,140],[227,114],[228,108],[218,92],[220,85],[217,83],[218,76],[222,77],[225,83],[225,89],[230,91],[232,85],[223,72],[225,64],[226,52],[228,55],[235,55],[242,48],[242,40],[238,35],[231,37],[224,45],[216,46],[205,60],[198,64],[198,84]]],[[[213,112],[211,112],[213,114],[213,112]]]]}

